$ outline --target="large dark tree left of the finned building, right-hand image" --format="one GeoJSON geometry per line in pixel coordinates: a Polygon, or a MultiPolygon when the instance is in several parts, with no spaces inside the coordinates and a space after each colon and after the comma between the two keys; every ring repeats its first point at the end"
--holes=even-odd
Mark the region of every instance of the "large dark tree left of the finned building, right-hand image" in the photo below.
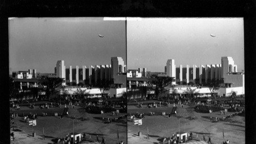
{"type": "Polygon", "coordinates": [[[164,92],[164,88],[167,87],[168,85],[172,84],[173,82],[173,77],[168,77],[168,76],[157,76],[157,75],[152,75],[151,78],[153,78],[152,83],[156,85],[156,95],[161,94],[164,92]]]}

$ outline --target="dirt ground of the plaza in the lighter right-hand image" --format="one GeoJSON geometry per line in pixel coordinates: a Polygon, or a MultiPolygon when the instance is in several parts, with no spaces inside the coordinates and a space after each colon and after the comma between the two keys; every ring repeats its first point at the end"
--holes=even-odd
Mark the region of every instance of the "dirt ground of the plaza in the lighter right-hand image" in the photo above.
{"type": "MultiPolygon", "coordinates": [[[[187,111],[187,105],[184,107],[179,107],[177,115],[181,115],[180,119],[180,131],[183,132],[192,132],[193,140],[201,140],[203,134],[208,140],[208,136],[211,137],[211,141],[214,143],[223,142],[223,129],[224,129],[224,140],[230,140],[230,143],[245,143],[245,117],[234,116],[228,118],[228,120],[220,122],[210,122],[209,117],[212,119],[222,118],[223,115],[220,112],[209,113],[198,113],[193,111],[192,115],[196,116],[195,120],[190,120],[191,113],[187,111]],[[196,137],[196,133],[198,137],[196,137]]],[[[142,125],[139,126],[139,131],[142,133],[141,137],[138,137],[138,126],[134,125],[134,122],[131,121],[130,117],[127,118],[127,138],[128,143],[155,143],[162,142],[164,137],[171,137],[175,132],[179,131],[179,121],[177,116],[174,114],[168,118],[168,114],[173,106],[167,107],[157,107],[157,108],[146,108],[146,105],[143,105],[142,108],[137,106],[128,106],[127,111],[131,113],[144,112],[148,114],[149,111],[155,111],[155,113],[166,112],[166,116],[145,116],[142,119],[142,125]],[[146,134],[148,132],[150,139],[147,141],[146,134]]],[[[228,112],[227,114],[229,114],[228,112]]]]}

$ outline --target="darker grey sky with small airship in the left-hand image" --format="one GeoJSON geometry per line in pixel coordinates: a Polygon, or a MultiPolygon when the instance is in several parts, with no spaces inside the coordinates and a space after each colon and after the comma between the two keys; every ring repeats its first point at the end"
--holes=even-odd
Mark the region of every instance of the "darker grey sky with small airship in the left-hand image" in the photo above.
{"type": "Polygon", "coordinates": [[[125,21],[103,18],[9,18],[9,59],[12,71],[36,69],[54,73],[58,60],[66,67],[126,64],[125,21]],[[103,35],[101,38],[98,35],[103,35]]]}

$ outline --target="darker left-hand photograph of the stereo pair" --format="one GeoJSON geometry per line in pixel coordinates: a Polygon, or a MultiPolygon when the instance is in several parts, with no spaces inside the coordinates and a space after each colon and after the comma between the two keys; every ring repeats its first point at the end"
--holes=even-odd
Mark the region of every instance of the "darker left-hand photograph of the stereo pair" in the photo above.
{"type": "Polygon", "coordinates": [[[9,18],[12,143],[126,143],[126,24],[9,18]]]}

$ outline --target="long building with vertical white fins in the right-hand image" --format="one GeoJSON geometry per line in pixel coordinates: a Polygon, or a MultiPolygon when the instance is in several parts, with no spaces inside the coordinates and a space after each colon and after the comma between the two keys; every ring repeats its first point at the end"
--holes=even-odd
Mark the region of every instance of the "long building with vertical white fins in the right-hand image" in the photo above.
{"type": "Polygon", "coordinates": [[[199,67],[196,65],[176,67],[174,60],[167,60],[165,72],[167,76],[174,77],[176,84],[203,84],[207,79],[218,79],[224,80],[224,83],[233,83],[234,86],[236,82],[232,79],[239,79],[238,75],[242,74],[237,72],[237,65],[234,65],[232,57],[229,56],[221,57],[221,64],[199,67]]]}

